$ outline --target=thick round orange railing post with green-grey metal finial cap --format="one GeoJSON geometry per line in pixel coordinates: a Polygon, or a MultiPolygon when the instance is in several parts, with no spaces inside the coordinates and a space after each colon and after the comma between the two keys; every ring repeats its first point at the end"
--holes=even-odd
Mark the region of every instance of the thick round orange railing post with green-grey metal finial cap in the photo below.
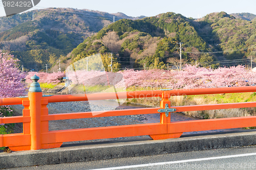
{"type": "Polygon", "coordinates": [[[39,80],[38,76],[31,77],[32,83],[29,88],[29,110],[30,110],[30,133],[31,133],[31,150],[41,149],[41,99],[42,90],[40,84],[37,82],[39,80]]]}

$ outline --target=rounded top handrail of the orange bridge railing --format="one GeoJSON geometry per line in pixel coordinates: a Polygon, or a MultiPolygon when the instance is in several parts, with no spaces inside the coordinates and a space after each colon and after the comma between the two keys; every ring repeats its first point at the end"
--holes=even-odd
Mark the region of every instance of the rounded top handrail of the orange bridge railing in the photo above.
{"type": "MultiPolygon", "coordinates": [[[[256,92],[256,86],[242,87],[214,87],[214,88],[191,88],[191,89],[172,89],[168,91],[162,90],[145,90],[145,91],[124,91],[124,92],[106,92],[106,93],[84,93],[84,94],[62,94],[45,96],[49,103],[55,102],[75,102],[75,101],[93,101],[93,100],[112,100],[116,99],[131,99],[131,98],[153,98],[161,97],[162,94],[169,96],[176,95],[200,95],[200,94],[221,94],[221,93],[241,93],[241,92],[256,92]]],[[[28,98],[2,98],[2,105],[21,105],[23,100],[28,98]]]]}

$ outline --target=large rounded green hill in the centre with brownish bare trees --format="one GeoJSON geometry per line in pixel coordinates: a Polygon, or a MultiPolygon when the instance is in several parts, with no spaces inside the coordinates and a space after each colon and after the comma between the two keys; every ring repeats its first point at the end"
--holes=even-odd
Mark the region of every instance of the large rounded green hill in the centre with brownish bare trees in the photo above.
{"type": "MultiPolygon", "coordinates": [[[[163,68],[166,63],[172,63],[172,59],[179,58],[177,42],[183,42],[187,52],[211,50],[192,21],[171,12],[140,20],[121,19],[77,46],[72,52],[73,60],[98,52],[114,52],[123,67],[137,68],[145,64],[146,67],[163,68]],[[96,42],[101,43],[99,48],[96,42]]],[[[183,54],[183,57],[190,62],[199,59],[193,54],[183,54]]]]}

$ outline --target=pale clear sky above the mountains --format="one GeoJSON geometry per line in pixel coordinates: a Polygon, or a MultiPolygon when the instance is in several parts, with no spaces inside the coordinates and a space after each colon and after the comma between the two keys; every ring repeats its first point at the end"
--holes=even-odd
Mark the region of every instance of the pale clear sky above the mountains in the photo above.
{"type": "MultiPolygon", "coordinates": [[[[3,0],[12,1],[12,0],[3,0]]],[[[17,1],[17,0],[13,0],[17,1]]],[[[20,0],[25,1],[25,0],[20,0]]],[[[158,0],[158,1],[140,1],[140,0],[40,0],[40,3],[32,9],[55,8],[77,8],[98,10],[108,13],[122,12],[128,16],[156,16],[161,13],[175,12],[186,17],[200,18],[212,12],[225,11],[228,14],[249,12],[256,14],[255,0],[158,0]]],[[[0,1],[0,16],[5,16],[3,3],[0,1]]]]}

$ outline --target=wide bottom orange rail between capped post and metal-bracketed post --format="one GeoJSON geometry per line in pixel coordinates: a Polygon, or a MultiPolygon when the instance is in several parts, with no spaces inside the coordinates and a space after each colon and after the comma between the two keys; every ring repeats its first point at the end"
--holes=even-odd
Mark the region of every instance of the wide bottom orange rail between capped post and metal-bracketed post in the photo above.
{"type": "Polygon", "coordinates": [[[58,130],[42,133],[42,143],[141,136],[161,133],[167,133],[167,129],[166,125],[160,123],[58,130]]]}

